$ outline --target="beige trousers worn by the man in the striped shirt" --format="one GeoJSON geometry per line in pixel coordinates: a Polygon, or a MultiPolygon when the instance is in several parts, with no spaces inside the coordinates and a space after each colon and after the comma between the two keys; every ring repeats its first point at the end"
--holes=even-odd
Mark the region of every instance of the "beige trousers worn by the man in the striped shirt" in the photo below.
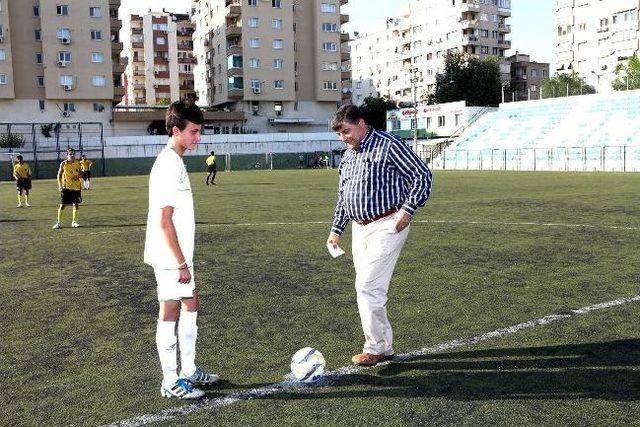
{"type": "Polygon", "coordinates": [[[409,226],[395,231],[395,215],[367,225],[352,225],[353,265],[364,353],[393,354],[393,331],[387,318],[387,291],[409,226]]]}

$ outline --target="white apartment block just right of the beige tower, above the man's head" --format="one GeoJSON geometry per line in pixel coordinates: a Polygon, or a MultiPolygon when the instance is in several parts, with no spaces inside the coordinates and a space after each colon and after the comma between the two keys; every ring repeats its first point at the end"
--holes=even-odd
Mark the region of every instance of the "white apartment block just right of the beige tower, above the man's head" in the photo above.
{"type": "Polygon", "coordinates": [[[388,18],[381,31],[354,35],[351,42],[353,104],[361,105],[368,96],[411,100],[411,77],[403,67],[411,60],[409,16],[388,18]]]}

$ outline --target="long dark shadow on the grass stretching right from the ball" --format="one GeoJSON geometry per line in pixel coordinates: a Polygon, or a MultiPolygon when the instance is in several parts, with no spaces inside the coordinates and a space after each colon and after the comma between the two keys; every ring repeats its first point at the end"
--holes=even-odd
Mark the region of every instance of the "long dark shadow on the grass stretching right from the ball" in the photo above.
{"type": "Polygon", "coordinates": [[[640,340],[433,354],[357,373],[314,393],[269,399],[640,400],[640,340]]]}

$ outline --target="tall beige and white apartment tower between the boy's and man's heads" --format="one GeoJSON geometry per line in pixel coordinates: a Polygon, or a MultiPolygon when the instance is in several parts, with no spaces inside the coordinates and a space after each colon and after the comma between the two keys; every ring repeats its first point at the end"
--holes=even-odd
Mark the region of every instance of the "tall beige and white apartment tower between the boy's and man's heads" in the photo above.
{"type": "Polygon", "coordinates": [[[244,112],[244,132],[326,130],[351,98],[346,3],[195,0],[199,103],[244,112]]]}

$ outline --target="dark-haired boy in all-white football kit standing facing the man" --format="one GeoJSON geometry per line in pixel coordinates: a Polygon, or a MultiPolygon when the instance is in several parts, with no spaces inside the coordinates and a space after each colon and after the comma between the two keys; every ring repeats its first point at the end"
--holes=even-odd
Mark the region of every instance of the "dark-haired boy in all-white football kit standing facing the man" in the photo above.
{"type": "Polygon", "coordinates": [[[149,176],[149,215],[144,262],[154,269],[160,313],[156,346],[162,366],[160,393],[164,397],[195,399],[204,392],[196,385],[218,381],[195,365],[198,294],[193,278],[195,217],[185,151],[200,141],[204,117],[195,104],[176,101],[167,110],[169,141],[149,176]],[[177,324],[177,336],[176,336],[177,324]],[[178,375],[176,344],[180,347],[178,375]]]}

